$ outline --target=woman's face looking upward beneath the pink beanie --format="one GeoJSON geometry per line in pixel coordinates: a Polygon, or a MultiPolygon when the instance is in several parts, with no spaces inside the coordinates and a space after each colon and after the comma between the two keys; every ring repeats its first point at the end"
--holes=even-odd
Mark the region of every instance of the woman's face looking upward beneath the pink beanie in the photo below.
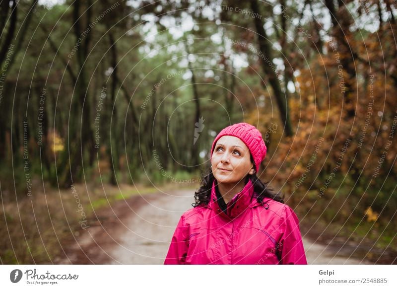
{"type": "Polygon", "coordinates": [[[254,173],[250,150],[239,138],[223,136],[211,157],[212,173],[220,183],[233,184],[254,173]]]}

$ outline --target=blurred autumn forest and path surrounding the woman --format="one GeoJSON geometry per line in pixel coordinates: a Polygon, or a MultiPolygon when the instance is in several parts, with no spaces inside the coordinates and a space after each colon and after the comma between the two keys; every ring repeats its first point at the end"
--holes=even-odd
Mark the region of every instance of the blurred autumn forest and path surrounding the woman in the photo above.
{"type": "Polygon", "coordinates": [[[162,264],[225,126],[310,264],[396,264],[394,0],[0,1],[1,264],[162,264]]]}

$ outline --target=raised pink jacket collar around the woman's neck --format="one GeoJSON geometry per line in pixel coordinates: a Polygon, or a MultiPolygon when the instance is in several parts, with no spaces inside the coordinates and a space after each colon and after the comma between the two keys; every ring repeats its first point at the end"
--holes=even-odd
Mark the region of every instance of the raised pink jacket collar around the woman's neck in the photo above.
{"type": "Polygon", "coordinates": [[[225,214],[218,204],[218,198],[215,191],[216,186],[217,181],[214,180],[214,182],[212,183],[211,199],[208,205],[217,215],[226,218],[235,218],[240,216],[249,207],[255,206],[255,204],[253,204],[254,202],[259,205],[256,198],[253,197],[254,185],[251,180],[248,180],[244,188],[239,193],[237,193],[227,204],[227,210],[225,214]]]}

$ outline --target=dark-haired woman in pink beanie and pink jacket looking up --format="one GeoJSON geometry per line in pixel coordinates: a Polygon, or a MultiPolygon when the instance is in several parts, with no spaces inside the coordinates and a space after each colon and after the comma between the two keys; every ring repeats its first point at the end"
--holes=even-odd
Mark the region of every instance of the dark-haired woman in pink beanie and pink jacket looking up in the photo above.
{"type": "Polygon", "coordinates": [[[211,172],[179,220],[164,264],[307,264],[298,218],[256,176],[261,133],[239,123],[211,148],[211,172]]]}

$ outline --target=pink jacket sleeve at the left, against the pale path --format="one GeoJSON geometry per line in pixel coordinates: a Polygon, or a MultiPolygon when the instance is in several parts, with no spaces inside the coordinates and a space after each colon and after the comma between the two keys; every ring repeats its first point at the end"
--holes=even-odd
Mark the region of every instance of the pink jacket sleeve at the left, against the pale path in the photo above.
{"type": "Polygon", "coordinates": [[[188,253],[188,226],[185,225],[185,217],[179,219],[174,235],[171,239],[170,248],[165,257],[165,265],[183,265],[188,253]]]}

